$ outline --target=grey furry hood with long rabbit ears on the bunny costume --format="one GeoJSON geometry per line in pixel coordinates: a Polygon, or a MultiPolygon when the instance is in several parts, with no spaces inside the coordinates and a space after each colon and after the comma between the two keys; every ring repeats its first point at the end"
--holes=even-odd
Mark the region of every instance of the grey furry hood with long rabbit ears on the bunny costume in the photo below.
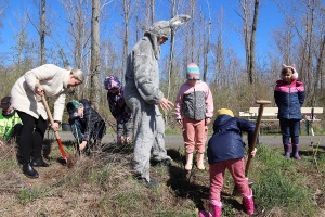
{"type": "Polygon", "coordinates": [[[169,38],[171,35],[171,28],[182,25],[184,22],[188,21],[191,16],[188,15],[177,15],[170,21],[158,21],[153,24],[153,26],[146,29],[146,33],[153,34],[158,37],[169,38]]]}

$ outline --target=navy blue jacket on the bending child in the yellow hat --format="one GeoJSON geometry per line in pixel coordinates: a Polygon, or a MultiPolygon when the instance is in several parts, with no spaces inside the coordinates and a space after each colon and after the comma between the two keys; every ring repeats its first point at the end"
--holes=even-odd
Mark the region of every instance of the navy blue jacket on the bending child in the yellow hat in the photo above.
{"type": "Polygon", "coordinates": [[[248,132],[248,145],[252,144],[255,124],[230,115],[219,115],[213,124],[213,136],[208,142],[209,164],[243,158],[245,143],[242,132],[248,132]]]}

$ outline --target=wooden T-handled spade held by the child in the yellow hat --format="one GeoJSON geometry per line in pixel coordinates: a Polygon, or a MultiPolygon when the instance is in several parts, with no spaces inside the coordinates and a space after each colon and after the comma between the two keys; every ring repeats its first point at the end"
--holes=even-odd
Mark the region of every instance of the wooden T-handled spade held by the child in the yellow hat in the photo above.
{"type": "MultiPolygon", "coordinates": [[[[255,127],[255,131],[253,131],[252,143],[251,143],[251,146],[248,150],[248,158],[247,158],[247,163],[246,163],[246,167],[245,167],[245,177],[246,178],[247,178],[248,170],[249,170],[250,163],[251,163],[251,158],[252,158],[252,156],[250,155],[250,153],[255,150],[257,138],[258,138],[258,135],[259,135],[260,124],[261,124],[261,120],[262,120],[264,105],[271,104],[271,101],[257,100],[256,103],[260,105],[260,108],[259,108],[258,118],[256,120],[256,127],[255,127]]],[[[249,184],[249,188],[251,188],[251,186],[253,184],[253,182],[248,180],[248,184],[249,184]]],[[[238,194],[238,187],[235,186],[234,190],[233,190],[233,195],[237,195],[237,194],[238,194]]]]}

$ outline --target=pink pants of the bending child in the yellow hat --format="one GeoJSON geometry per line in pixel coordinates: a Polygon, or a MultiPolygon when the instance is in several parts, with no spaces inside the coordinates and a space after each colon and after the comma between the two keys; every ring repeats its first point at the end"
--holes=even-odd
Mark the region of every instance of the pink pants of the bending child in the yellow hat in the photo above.
{"type": "Polygon", "coordinates": [[[223,177],[226,168],[230,170],[242,196],[250,195],[248,180],[245,177],[244,158],[230,159],[210,164],[210,201],[216,200],[217,202],[221,202],[220,193],[223,187],[223,177]]]}

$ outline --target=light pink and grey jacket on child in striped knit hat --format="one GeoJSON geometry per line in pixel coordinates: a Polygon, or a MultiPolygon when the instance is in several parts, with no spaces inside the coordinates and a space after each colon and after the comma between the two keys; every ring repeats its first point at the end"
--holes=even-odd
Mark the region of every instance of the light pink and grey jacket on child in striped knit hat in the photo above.
{"type": "Polygon", "coordinates": [[[184,82],[176,100],[176,119],[183,116],[202,120],[213,116],[213,98],[208,85],[198,80],[194,87],[184,82]]]}

